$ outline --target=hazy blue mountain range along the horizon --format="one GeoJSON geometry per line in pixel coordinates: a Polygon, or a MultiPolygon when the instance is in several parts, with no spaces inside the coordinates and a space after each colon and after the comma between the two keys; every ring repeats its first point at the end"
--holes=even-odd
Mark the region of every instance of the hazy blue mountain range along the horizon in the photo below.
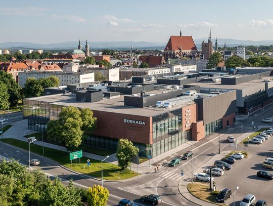
{"type": "MultiPolygon", "coordinates": [[[[198,49],[201,48],[202,41],[207,42],[207,38],[196,38],[194,42],[198,49]]],[[[215,38],[212,39],[213,44],[215,43],[215,38]]],[[[262,41],[252,41],[252,40],[238,40],[232,38],[217,38],[218,45],[222,47],[224,43],[226,46],[259,46],[259,45],[273,45],[273,40],[262,40],[262,41]]],[[[88,42],[89,48],[92,49],[118,49],[118,50],[129,50],[130,47],[138,49],[159,49],[163,50],[167,42],[88,42]]],[[[84,48],[85,42],[82,41],[82,47],[84,48]]],[[[35,44],[35,43],[24,43],[24,42],[5,42],[0,43],[0,49],[44,49],[44,50],[54,50],[54,49],[77,49],[78,42],[63,42],[63,43],[53,43],[53,44],[35,44]]]]}

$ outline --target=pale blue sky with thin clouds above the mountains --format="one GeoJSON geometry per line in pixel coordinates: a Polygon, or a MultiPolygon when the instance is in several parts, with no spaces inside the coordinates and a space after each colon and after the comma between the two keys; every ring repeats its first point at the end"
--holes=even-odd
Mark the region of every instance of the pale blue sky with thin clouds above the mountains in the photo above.
{"type": "Polygon", "coordinates": [[[272,0],[1,1],[0,43],[167,42],[170,35],[273,40],[272,0]]]}

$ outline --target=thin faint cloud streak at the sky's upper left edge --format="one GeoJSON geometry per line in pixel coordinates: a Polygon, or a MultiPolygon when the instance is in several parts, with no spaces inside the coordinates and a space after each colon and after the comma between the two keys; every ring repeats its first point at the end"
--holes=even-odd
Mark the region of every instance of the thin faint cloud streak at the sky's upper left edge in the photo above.
{"type": "Polygon", "coordinates": [[[0,8],[0,16],[44,16],[48,9],[37,7],[0,8]]]}

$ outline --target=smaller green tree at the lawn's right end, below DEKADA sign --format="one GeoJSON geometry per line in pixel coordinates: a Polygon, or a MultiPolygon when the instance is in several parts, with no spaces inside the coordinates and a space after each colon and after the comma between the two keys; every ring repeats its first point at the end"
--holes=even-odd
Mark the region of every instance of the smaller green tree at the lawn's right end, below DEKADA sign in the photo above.
{"type": "Polygon", "coordinates": [[[118,166],[125,170],[130,162],[131,158],[135,157],[139,153],[139,148],[133,146],[132,142],[127,139],[119,139],[116,157],[118,159],[118,166]]]}

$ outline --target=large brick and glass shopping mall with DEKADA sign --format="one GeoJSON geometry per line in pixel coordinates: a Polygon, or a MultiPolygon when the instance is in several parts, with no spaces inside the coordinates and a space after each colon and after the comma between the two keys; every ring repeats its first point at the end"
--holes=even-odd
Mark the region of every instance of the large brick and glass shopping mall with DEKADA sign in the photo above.
{"type": "Polygon", "coordinates": [[[141,156],[155,157],[235,122],[236,91],[232,90],[126,83],[72,85],[45,93],[52,95],[23,100],[30,130],[57,119],[62,107],[90,108],[97,117],[97,128],[84,144],[115,151],[118,140],[126,138],[140,149],[141,156]]]}

